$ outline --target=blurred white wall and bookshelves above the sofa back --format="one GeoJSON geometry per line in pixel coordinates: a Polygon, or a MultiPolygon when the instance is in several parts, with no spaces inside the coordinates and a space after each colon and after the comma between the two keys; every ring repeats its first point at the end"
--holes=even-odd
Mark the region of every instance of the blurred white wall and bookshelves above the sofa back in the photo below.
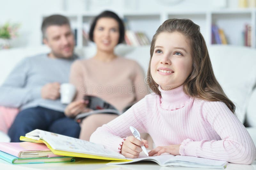
{"type": "MultiPolygon", "coordinates": [[[[12,35],[3,48],[42,45],[41,23],[51,14],[71,21],[78,47],[92,45],[87,39],[90,22],[103,10],[123,18],[126,44],[148,45],[156,29],[168,18],[189,18],[201,26],[207,44],[232,44],[255,48],[256,0],[0,0],[0,26],[12,35]]],[[[5,36],[3,36],[3,34],[5,36]]],[[[2,42],[3,43],[3,42],[2,42]]]]}

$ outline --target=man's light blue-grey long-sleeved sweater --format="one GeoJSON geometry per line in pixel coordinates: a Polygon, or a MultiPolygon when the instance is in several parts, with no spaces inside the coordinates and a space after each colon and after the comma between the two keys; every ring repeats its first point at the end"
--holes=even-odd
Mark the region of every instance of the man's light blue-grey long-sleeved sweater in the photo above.
{"type": "Polygon", "coordinates": [[[63,112],[67,105],[61,104],[60,99],[43,99],[41,89],[47,83],[67,83],[76,58],[49,58],[42,54],[23,59],[0,86],[0,106],[20,110],[41,106],[63,112]]]}

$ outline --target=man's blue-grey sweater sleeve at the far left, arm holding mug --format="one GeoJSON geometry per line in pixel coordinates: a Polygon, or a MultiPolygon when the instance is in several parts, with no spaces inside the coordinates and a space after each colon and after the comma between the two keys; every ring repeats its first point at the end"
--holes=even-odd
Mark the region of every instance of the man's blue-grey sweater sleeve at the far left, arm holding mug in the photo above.
{"type": "Polygon", "coordinates": [[[15,66],[0,87],[0,105],[21,107],[31,100],[41,98],[42,86],[26,87],[29,70],[29,58],[23,59],[15,66]]]}

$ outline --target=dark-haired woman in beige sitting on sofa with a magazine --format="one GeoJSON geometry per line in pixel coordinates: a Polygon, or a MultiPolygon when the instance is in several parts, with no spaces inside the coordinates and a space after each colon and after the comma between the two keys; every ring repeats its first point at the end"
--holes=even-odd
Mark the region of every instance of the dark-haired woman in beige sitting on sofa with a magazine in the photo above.
{"type": "MultiPolygon", "coordinates": [[[[93,95],[112,104],[119,111],[146,95],[144,73],[139,64],[117,56],[114,49],[124,41],[124,24],[112,11],[103,11],[92,22],[90,40],[97,46],[96,55],[78,60],[71,66],[70,83],[77,95],[65,109],[68,117],[90,111],[84,95],[93,95]],[[139,87],[140,85],[140,87],[139,87]]],[[[95,114],[81,122],[80,139],[88,140],[98,127],[116,118],[115,114],[95,114]]]]}

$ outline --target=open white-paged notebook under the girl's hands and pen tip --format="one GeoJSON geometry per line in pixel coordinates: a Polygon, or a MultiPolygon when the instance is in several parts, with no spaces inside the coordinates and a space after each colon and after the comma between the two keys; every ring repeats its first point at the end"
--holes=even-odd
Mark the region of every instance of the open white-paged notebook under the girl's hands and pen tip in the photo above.
{"type": "Polygon", "coordinates": [[[151,157],[148,157],[146,155],[140,155],[139,158],[130,159],[130,160],[132,161],[128,161],[128,162],[111,161],[107,165],[122,165],[122,164],[139,162],[143,160],[149,160],[149,161],[156,162],[160,166],[186,166],[186,167],[198,167],[198,168],[224,169],[228,164],[228,162],[226,161],[198,158],[193,156],[180,156],[180,155],[173,156],[171,154],[162,154],[160,156],[151,156],[151,157]]]}

